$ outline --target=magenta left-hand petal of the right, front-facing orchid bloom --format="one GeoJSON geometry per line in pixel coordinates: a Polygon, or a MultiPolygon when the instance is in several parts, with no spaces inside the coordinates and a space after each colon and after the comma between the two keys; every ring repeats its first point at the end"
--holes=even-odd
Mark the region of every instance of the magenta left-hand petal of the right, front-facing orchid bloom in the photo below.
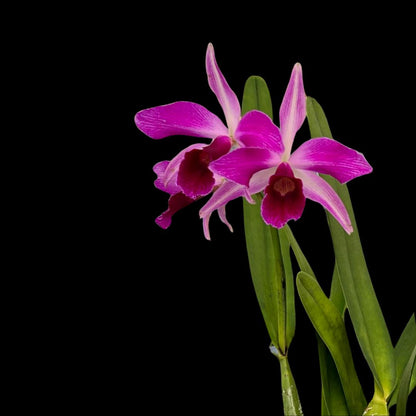
{"type": "Polygon", "coordinates": [[[226,179],[249,186],[254,173],[276,166],[278,162],[279,155],[270,150],[241,147],[212,162],[210,168],[226,179]]]}

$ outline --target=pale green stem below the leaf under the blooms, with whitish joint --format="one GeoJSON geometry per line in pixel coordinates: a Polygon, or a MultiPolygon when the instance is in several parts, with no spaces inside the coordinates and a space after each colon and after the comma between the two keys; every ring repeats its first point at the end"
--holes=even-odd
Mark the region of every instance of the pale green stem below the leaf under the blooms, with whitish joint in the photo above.
{"type": "Polygon", "coordinates": [[[298,390],[289,366],[287,355],[280,354],[274,346],[270,347],[270,351],[279,359],[284,415],[303,416],[298,390]]]}

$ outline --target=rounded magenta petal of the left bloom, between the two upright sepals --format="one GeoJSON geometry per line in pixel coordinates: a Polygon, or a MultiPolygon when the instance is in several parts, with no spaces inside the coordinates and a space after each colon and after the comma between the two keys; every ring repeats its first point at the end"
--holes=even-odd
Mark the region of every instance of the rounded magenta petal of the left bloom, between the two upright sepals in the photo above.
{"type": "Polygon", "coordinates": [[[234,138],[245,147],[262,147],[278,154],[284,150],[279,128],[268,115],[257,110],[241,118],[234,138]]]}

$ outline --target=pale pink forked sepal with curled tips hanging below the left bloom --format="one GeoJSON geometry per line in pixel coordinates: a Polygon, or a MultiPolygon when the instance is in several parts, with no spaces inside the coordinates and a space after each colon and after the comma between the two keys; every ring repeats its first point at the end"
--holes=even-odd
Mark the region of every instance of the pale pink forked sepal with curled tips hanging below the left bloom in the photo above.
{"type": "Polygon", "coordinates": [[[202,218],[202,225],[204,235],[207,240],[210,240],[209,220],[211,214],[215,210],[219,210],[221,220],[228,225],[230,224],[225,219],[225,205],[233,199],[239,198],[246,194],[246,188],[243,185],[238,185],[233,182],[224,182],[211,196],[208,202],[199,211],[199,216],[202,218]]]}

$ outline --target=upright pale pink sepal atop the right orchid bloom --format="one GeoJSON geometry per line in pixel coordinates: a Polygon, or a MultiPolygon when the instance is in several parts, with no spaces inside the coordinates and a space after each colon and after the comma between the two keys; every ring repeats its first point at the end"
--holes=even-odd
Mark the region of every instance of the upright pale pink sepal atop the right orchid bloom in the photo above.
{"type": "Polygon", "coordinates": [[[306,94],[303,87],[302,67],[295,64],[280,106],[280,133],[285,147],[285,157],[289,158],[296,132],[306,117],[306,94]]]}

